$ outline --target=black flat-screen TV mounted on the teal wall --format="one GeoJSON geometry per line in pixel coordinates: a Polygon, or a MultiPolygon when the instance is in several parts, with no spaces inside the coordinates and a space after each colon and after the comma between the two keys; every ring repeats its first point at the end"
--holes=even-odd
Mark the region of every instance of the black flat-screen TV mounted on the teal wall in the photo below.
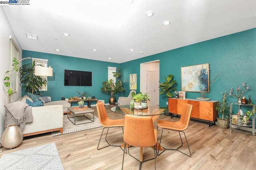
{"type": "Polygon", "coordinates": [[[64,70],[65,86],[92,86],[92,72],[64,70]]]}

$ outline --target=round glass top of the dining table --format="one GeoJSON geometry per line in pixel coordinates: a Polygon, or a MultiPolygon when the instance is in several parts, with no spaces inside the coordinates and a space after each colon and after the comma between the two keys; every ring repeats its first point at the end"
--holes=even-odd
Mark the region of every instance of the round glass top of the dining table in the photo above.
{"type": "Polygon", "coordinates": [[[119,114],[129,114],[129,115],[142,115],[142,116],[152,116],[152,115],[161,115],[164,113],[168,113],[168,107],[161,106],[149,106],[148,108],[143,109],[134,109],[130,105],[120,105],[114,106],[110,109],[111,111],[119,114]]]}

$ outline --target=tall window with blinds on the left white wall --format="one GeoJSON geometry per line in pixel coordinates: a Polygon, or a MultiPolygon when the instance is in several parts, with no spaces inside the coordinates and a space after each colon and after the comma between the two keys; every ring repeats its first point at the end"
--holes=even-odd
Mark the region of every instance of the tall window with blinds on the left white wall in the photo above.
{"type": "MultiPolygon", "coordinates": [[[[12,36],[10,36],[10,41],[9,41],[9,70],[12,70],[12,61],[14,58],[18,59],[19,55],[19,49],[14,42],[14,39],[12,36]]],[[[12,72],[12,77],[10,77],[11,82],[10,82],[10,88],[13,90],[13,93],[17,92],[18,88],[18,72],[15,70],[12,72]]]]}

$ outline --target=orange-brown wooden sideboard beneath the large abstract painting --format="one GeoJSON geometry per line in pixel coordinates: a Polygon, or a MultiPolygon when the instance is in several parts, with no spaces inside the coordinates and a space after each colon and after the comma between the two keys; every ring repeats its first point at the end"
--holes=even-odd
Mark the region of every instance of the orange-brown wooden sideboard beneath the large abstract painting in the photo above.
{"type": "Polygon", "coordinates": [[[203,119],[207,121],[215,121],[218,116],[218,111],[215,109],[218,101],[208,100],[200,101],[196,99],[168,99],[168,108],[170,113],[182,115],[182,110],[185,104],[192,104],[191,117],[203,119]]]}

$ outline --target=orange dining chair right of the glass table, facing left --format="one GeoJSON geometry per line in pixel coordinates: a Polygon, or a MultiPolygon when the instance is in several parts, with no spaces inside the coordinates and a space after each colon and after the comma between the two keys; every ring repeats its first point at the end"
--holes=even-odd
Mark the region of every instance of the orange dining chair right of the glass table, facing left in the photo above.
{"type": "MultiPolygon", "coordinates": [[[[158,127],[162,128],[162,133],[161,133],[161,138],[160,138],[159,145],[161,145],[161,140],[162,140],[162,135],[163,135],[164,129],[178,131],[179,135],[180,135],[180,132],[184,133],[184,136],[185,136],[185,139],[186,139],[186,143],[188,145],[188,140],[186,138],[184,130],[186,130],[188,128],[188,124],[189,124],[190,116],[191,116],[191,111],[192,111],[192,105],[191,104],[186,104],[184,106],[184,108],[183,108],[183,111],[182,111],[182,114],[180,116],[180,120],[179,121],[171,122],[171,121],[165,121],[165,120],[157,120],[158,127]]],[[[182,147],[182,145],[183,145],[181,136],[180,136],[180,140],[181,140],[181,145],[178,148],[170,149],[170,148],[164,148],[163,147],[164,151],[165,150],[177,150],[177,151],[181,152],[179,150],[180,147],[182,147]]],[[[189,150],[189,153],[190,153],[189,155],[184,153],[184,152],[181,152],[181,153],[191,157],[191,152],[190,152],[189,146],[188,146],[188,150],[189,150]]],[[[164,151],[162,151],[160,154],[162,154],[164,151]]],[[[159,154],[159,149],[158,149],[158,155],[160,155],[160,154],[159,154]]]]}

